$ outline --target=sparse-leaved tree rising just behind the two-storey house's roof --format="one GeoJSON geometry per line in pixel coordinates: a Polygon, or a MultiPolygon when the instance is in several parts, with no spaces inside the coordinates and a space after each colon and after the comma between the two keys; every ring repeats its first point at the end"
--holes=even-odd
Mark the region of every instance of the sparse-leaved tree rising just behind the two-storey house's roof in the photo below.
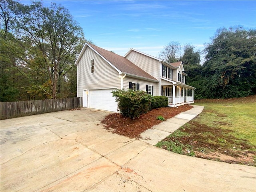
{"type": "Polygon", "coordinates": [[[170,42],[164,49],[160,52],[159,57],[165,61],[172,63],[180,61],[181,54],[181,44],[177,41],[170,42]]]}

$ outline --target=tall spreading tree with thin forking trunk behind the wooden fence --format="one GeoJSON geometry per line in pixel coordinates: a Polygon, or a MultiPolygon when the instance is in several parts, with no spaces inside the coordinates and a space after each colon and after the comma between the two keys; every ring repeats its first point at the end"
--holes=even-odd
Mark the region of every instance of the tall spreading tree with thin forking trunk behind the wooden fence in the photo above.
{"type": "MultiPolygon", "coordinates": [[[[75,67],[78,48],[85,41],[82,28],[66,8],[55,3],[47,8],[41,2],[33,2],[27,13],[18,24],[23,40],[21,46],[25,45],[28,53],[24,61],[31,68],[48,74],[51,83],[49,94],[56,98],[58,79],[75,67]]],[[[43,89],[42,86],[40,88],[43,89]]]]}

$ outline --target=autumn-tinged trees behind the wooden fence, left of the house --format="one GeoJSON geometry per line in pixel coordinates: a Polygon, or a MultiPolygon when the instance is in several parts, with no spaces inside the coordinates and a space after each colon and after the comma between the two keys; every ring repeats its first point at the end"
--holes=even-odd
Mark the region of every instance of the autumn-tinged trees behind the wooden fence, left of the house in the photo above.
{"type": "Polygon", "coordinates": [[[1,102],[76,97],[76,60],[86,42],[63,6],[2,0],[1,102]]]}

